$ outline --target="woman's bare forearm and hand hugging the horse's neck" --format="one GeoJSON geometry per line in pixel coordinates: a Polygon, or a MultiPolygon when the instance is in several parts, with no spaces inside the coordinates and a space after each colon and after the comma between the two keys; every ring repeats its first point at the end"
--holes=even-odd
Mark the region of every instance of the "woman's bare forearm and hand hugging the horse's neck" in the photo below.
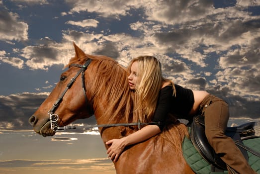
{"type": "Polygon", "coordinates": [[[161,130],[159,126],[147,125],[135,133],[132,133],[121,139],[109,140],[105,143],[106,145],[111,145],[107,149],[108,157],[116,162],[126,146],[145,141],[160,132],[161,130]]]}

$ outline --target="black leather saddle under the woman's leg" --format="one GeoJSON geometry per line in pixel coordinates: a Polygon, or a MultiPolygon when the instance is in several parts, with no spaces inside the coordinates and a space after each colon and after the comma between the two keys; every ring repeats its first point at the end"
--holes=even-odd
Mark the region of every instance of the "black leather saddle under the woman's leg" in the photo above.
{"type": "MultiPolygon", "coordinates": [[[[259,137],[255,135],[255,123],[256,122],[250,122],[237,127],[228,127],[225,132],[227,136],[231,137],[235,141],[246,160],[248,160],[247,150],[251,152],[252,149],[244,146],[242,140],[259,137]]],[[[204,116],[198,115],[193,118],[190,139],[193,146],[200,153],[200,155],[209,164],[211,164],[211,170],[213,170],[212,172],[227,170],[227,165],[225,162],[221,160],[221,158],[215,153],[213,148],[208,143],[205,135],[204,116]]],[[[258,152],[253,153],[256,153],[257,156],[259,155],[258,152]]]]}

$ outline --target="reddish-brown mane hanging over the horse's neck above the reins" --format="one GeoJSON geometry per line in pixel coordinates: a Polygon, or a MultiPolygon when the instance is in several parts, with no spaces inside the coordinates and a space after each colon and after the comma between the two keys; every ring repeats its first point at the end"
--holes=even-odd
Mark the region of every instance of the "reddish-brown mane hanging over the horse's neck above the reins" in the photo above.
{"type": "MultiPolygon", "coordinates": [[[[133,121],[133,91],[130,90],[127,80],[127,72],[124,67],[115,60],[106,56],[87,55],[93,61],[95,68],[91,72],[95,84],[92,91],[92,100],[102,98],[103,104],[107,105],[107,110],[100,117],[107,117],[108,123],[118,123],[120,121],[133,121]]],[[[95,104],[95,103],[93,103],[95,104]]],[[[96,103],[99,104],[99,103],[96,103]]],[[[93,105],[95,108],[96,105],[93,105]]],[[[100,119],[102,120],[102,119],[100,119]]]]}

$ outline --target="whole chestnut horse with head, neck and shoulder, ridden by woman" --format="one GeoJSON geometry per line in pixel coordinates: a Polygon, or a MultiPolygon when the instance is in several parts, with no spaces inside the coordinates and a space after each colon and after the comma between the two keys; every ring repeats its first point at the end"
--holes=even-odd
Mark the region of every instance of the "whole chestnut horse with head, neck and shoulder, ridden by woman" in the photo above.
{"type": "MultiPolygon", "coordinates": [[[[55,119],[58,119],[57,125],[65,126],[92,114],[97,124],[136,122],[133,117],[133,93],[128,87],[125,68],[111,58],[86,55],[75,44],[74,47],[76,55],[66,66],[69,69],[29,118],[34,131],[42,136],[53,136],[55,131],[51,129],[51,123],[55,119]],[[91,63],[86,66],[89,59],[91,63]],[[80,69],[83,71],[79,73],[80,69]],[[77,78],[77,74],[82,74],[82,80],[77,78]]],[[[99,128],[104,143],[136,130],[136,126],[99,128]]],[[[127,147],[114,163],[116,173],[194,174],[182,156],[181,142],[186,135],[186,126],[175,122],[159,135],[127,147]]],[[[105,145],[105,148],[108,147],[105,145]]]]}

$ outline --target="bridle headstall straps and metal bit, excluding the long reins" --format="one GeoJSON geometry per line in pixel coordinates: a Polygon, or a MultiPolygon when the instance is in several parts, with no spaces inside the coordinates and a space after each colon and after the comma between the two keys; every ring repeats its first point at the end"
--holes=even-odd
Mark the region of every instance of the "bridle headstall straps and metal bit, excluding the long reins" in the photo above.
{"type": "Polygon", "coordinates": [[[58,97],[58,99],[56,100],[56,102],[53,104],[51,110],[48,111],[48,114],[50,115],[50,122],[51,122],[51,129],[53,131],[57,131],[58,130],[58,120],[59,120],[59,116],[58,114],[55,114],[54,111],[57,109],[57,107],[59,106],[59,104],[62,101],[62,98],[64,97],[65,93],[68,91],[68,89],[74,84],[75,80],[78,78],[78,76],[81,74],[81,79],[82,79],[82,88],[83,88],[83,92],[85,95],[85,102],[87,102],[87,94],[86,94],[86,89],[85,89],[85,71],[87,70],[88,65],[91,63],[91,59],[87,59],[86,63],[84,65],[81,64],[71,64],[69,66],[69,68],[71,67],[78,67],[81,68],[78,73],[71,79],[71,81],[69,82],[69,84],[67,85],[67,87],[64,89],[64,91],[61,93],[61,95],[58,97]]]}

